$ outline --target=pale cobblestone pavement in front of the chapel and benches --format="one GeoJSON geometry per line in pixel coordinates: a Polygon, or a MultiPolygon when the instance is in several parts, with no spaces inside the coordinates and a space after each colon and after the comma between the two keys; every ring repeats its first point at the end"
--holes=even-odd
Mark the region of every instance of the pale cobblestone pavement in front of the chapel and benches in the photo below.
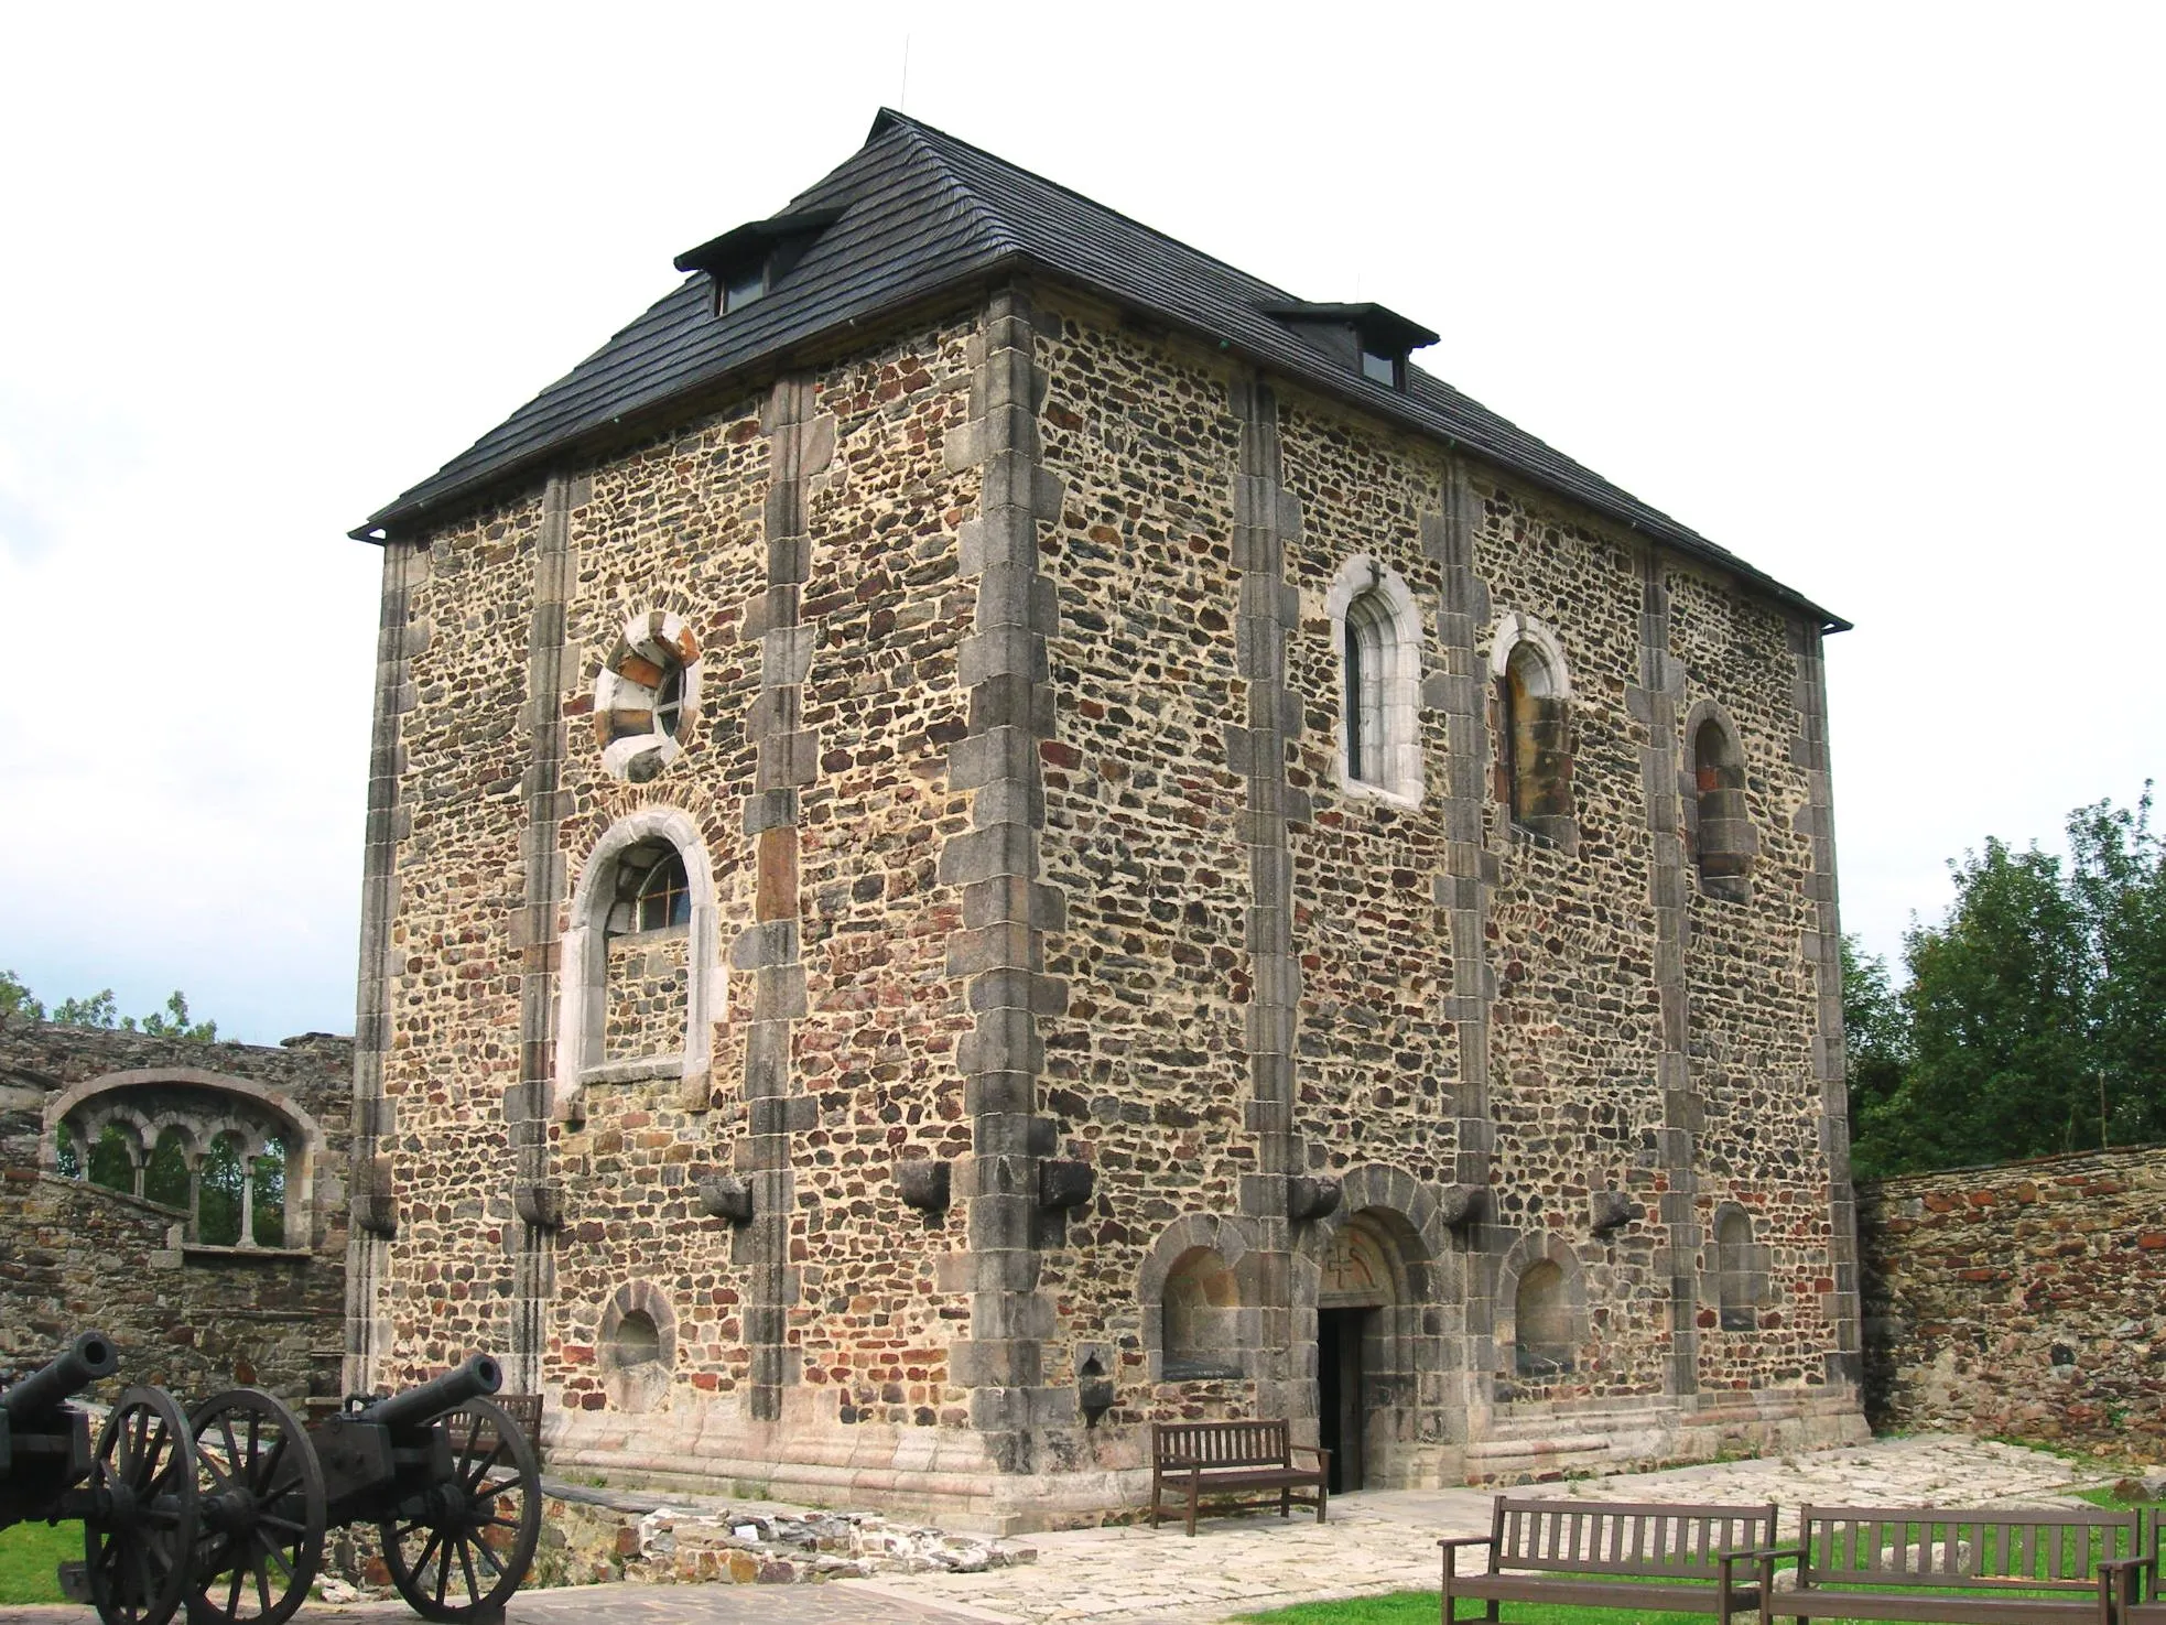
{"type": "MultiPolygon", "coordinates": [[[[1880,1439],[1767,1460],[1540,1484],[1525,1495],[1633,1502],[1939,1504],[2064,1499],[2075,1467],[2036,1450],[1949,1434],[1880,1439]]],[[[1436,1584],[1436,1538],[1486,1534],[1484,1491],[1369,1491],[1295,1514],[1031,1536],[1035,1564],[979,1575],[897,1575],[825,1586],[578,1586],[518,1597],[507,1625],[1217,1625],[1235,1614],[1436,1584]]],[[[1785,1517],[1785,1523],[1789,1519],[1785,1517]]],[[[84,1625],[80,1608],[0,1608],[0,1625],[84,1625]]],[[[412,1618],[401,1603],[327,1608],[301,1625],[412,1618]]]]}

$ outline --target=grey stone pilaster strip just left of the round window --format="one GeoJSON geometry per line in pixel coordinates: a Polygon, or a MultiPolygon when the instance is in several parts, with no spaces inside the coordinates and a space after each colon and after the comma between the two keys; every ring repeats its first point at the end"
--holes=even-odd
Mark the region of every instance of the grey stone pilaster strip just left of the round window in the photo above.
{"type": "MultiPolygon", "coordinates": [[[[565,754],[565,607],[578,578],[572,509],[585,505],[587,477],[550,474],[542,487],[542,533],[535,540],[535,589],[526,628],[529,734],[526,828],[520,858],[526,893],[513,916],[520,955],[520,1081],[505,1096],[516,1185],[548,1181],[550,1081],[557,1075],[559,910],[565,899],[563,754],[565,754]]],[[[511,1372],[516,1393],[542,1391],[548,1352],[548,1304],[554,1291],[554,1246],[546,1228],[518,1218],[507,1226],[511,1259],[511,1372]]]]}

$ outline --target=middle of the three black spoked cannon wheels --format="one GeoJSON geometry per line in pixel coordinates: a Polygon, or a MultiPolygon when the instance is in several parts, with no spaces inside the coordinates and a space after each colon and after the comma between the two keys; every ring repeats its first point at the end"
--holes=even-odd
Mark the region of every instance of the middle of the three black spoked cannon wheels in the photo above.
{"type": "Polygon", "coordinates": [[[301,1419],[262,1389],[195,1406],[204,1493],[188,1625],[282,1625],[323,1562],[323,1465],[301,1419]]]}

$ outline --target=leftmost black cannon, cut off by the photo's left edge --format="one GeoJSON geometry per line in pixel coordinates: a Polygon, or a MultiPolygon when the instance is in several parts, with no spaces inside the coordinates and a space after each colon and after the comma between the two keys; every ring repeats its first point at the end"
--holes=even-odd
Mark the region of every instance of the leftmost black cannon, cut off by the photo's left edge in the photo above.
{"type": "Polygon", "coordinates": [[[82,1519],[84,1580],[106,1625],[165,1625],[191,1577],[195,1443],[165,1389],[128,1389],[91,1447],[69,1400],[119,1369],[104,1332],[0,1389],[0,1528],[82,1519]]]}

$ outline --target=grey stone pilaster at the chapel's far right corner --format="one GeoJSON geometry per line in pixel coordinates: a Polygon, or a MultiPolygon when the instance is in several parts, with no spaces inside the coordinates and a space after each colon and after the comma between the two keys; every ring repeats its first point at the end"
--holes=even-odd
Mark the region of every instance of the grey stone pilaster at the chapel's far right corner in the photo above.
{"type": "Polygon", "coordinates": [[[1865,1391],[1865,1356],[1858,1309],[1858,1211],[1850,1185],[1850,1092],[1843,1049],[1843,921],[1835,884],[1835,778],[1828,763],[1828,663],[1822,630],[1791,624],[1791,654],[1798,661],[1798,737],[1791,760],[1804,769],[1806,797],[1798,832],[1811,841],[1813,869],[1806,875],[1804,964],[1813,973],[1813,1075],[1819,1081],[1819,1150],[1828,1161],[1828,1263],[1835,1278],[1826,1315],[1835,1328],[1828,1382],[1848,1384],[1852,1398],[1865,1391]]]}

